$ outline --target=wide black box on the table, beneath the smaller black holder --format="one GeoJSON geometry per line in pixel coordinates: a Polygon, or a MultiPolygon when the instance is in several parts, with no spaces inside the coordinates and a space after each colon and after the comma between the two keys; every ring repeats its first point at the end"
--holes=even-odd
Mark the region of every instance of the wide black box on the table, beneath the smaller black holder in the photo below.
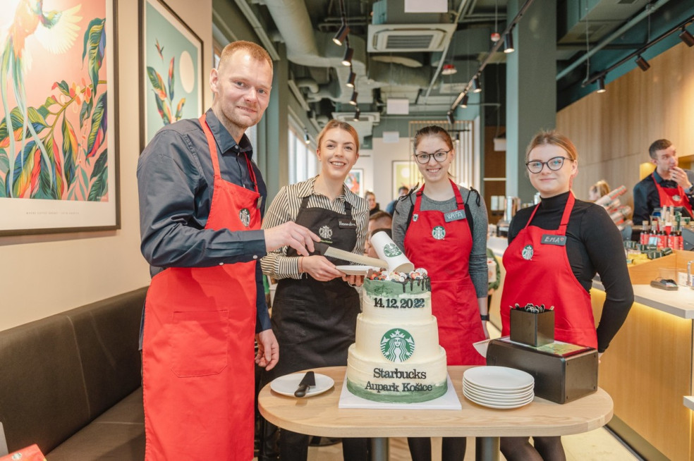
{"type": "Polygon", "coordinates": [[[552,343],[533,348],[512,343],[506,336],[489,341],[487,365],[532,374],[535,395],[550,402],[571,402],[597,391],[597,350],[587,346],[552,343]],[[571,352],[548,352],[552,348],[561,351],[562,347],[571,352]]]}

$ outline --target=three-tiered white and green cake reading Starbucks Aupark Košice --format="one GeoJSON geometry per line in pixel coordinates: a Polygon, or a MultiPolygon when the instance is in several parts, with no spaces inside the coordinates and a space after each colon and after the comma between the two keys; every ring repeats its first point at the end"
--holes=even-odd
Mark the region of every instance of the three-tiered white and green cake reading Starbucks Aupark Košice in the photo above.
{"type": "Polygon", "coordinates": [[[348,390],[377,402],[425,402],[446,393],[446,377],[430,279],[366,279],[347,358],[348,390]]]}

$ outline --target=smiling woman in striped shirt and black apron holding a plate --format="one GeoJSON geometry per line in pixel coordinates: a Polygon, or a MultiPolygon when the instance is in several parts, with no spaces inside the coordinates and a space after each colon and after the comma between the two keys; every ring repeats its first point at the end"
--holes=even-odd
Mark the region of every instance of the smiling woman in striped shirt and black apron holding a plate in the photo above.
{"type": "MultiPolygon", "coordinates": [[[[344,185],[358,159],[359,137],[348,123],[330,121],[318,136],[320,173],[282,188],[265,214],[263,228],[294,221],[331,247],[362,254],[368,221],[364,199],[344,185]]],[[[318,254],[300,257],[291,247],[267,254],[262,270],[278,279],[272,305],[272,331],[280,358],[263,381],[303,369],[347,364],[354,343],[359,295],[352,285],[363,276],[335,268],[347,264],[318,254]]],[[[280,459],[305,461],[309,436],[280,431],[280,459]]],[[[367,439],[343,439],[345,460],[367,459],[367,439]]]]}

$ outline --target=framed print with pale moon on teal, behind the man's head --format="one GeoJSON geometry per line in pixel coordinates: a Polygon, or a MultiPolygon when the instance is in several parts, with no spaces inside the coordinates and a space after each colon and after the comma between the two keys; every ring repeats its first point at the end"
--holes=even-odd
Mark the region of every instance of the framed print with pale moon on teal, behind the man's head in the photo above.
{"type": "Polygon", "coordinates": [[[202,115],[203,53],[164,0],[140,0],[140,152],[165,125],[202,115]]]}

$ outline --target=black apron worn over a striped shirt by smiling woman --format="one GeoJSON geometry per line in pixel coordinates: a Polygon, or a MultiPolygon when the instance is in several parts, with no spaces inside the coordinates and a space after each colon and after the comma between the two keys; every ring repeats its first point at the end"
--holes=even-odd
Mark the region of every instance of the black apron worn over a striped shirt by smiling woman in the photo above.
{"type": "MultiPolygon", "coordinates": [[[[351,252],[356,245],[357,226],[348,202],[345,214],[341,214],[308,208],[308,197],[304,197],[295,222],[320,235],[331,247],[351,252]]],[[[287,256],[297,256],[296,250],[289,248],[287,256]]],[[[346,264],[328,259],[333,264],[346,264]]],[[[341,278],[320,282],[308,273],[298,280],[282,278],[277,283],[271,317],[280,356],[276,367],[267,371],[267,381],[303,369],[346,365],[359,312],[359,294],[341,278]]]]}

